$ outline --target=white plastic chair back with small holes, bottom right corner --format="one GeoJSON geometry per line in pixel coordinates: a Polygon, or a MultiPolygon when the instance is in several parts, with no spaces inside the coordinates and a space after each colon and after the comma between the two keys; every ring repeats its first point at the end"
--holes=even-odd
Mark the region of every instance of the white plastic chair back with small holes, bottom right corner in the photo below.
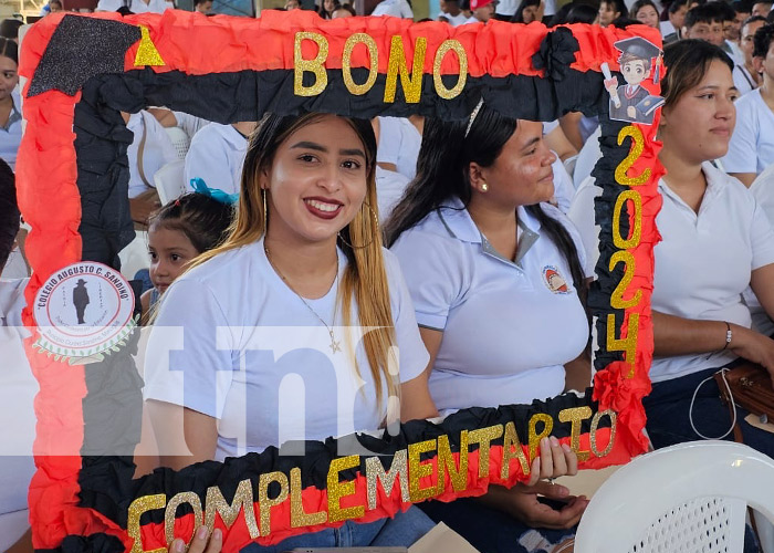
{"type": "Polygon", "coordinates": [[[741,444],[693,441],[621,467],[595,493],[575,553],[736,553],[750,505],[774,521],[774,460],[741,444]]]}

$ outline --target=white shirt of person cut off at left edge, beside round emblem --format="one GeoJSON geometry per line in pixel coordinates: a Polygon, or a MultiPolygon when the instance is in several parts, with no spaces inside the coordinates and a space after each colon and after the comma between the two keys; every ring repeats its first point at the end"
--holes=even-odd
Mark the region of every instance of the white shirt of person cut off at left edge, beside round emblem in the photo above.
{"type": "Polygon", "coordinates": [[[33,400],[40,387],[32,375],[21,327],[29,279],[0,281],[0,551],[10,547],[30,526],[27,494],[35,471],[33,400]]]}

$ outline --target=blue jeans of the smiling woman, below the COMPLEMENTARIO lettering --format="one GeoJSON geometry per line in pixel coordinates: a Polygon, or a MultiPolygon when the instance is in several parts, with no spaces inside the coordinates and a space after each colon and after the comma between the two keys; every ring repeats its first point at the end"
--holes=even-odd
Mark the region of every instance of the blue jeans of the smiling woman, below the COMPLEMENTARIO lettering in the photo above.
{"type": "Polygon", "coordinates": [[[282,553],[294,547],[363,547],[367,545],[405,546],[414,544],[428,533],[435,523],[419,509],[411,507],[394,519],[358,524],[346,521],[343,526],[294,535],[276,545],[250,544],[243,553],[282,553]]]}

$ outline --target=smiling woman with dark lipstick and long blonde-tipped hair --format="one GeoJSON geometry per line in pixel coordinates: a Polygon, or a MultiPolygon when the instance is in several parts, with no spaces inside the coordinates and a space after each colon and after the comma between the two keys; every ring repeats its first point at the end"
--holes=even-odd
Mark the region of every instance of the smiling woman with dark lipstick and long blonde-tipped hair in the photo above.
{"type": "MultiPolygon", "coordinates": [[[[369,207],[375,168],[367,121],[263,119],[231,234],[171,284],[151,332],[145,395],[165,466],[303,455],[303,440],[436,415],[410,296],[369,207]],[[169,452],[176,417],[196,429],[191,455],[169,452]]],[[[409,509],[346,526],[248,550],[408,546],[432,523],[409,509]]]]}

